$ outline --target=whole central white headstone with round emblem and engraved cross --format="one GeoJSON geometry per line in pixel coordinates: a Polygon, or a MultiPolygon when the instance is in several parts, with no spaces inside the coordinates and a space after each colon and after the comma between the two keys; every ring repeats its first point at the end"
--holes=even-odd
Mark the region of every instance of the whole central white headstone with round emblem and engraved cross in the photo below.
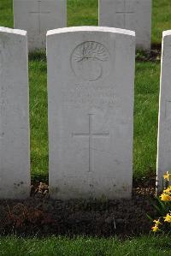
{"type": "Polygon", "coordinates": [[[135,34],[52,30],[47,57],[50,196],[130,198],[135,34]]]}

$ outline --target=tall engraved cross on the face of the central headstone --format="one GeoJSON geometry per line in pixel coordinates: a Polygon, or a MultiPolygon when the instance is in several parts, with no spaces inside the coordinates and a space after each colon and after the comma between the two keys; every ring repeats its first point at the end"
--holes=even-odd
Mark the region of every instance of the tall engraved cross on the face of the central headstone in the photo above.
{"type": "Polygon", "coordinates": [[[72,134],[74,137],[87,137],[89,139],[89,172],[93,171],[93,138],[109,138],[109,132],[104,133],[93,133],[92,132],[92,121],[94,114],[88,114],[89,116],[89,131],[87,134],[72,134]]]}

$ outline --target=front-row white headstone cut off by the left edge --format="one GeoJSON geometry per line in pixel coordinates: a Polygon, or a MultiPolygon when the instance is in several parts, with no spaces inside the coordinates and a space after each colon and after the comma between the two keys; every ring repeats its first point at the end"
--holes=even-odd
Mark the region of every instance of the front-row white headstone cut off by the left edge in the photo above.
{"type": "Polygon", "coordinates": [[[0,198],[30,193],[27,32],[0,27],[0,198]]]}

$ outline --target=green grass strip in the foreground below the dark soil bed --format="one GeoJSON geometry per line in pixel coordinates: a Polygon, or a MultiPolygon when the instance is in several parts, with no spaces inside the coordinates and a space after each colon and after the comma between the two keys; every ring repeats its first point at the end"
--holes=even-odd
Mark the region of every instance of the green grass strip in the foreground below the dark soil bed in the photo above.
{"type": "Polygon", "coordinates": [[[54,256],[168,256],[171,255],[171,237],[146,236],[126,241],[77,237],[45,239],[0,238],[0,255],[54,255],[54,256]]]}

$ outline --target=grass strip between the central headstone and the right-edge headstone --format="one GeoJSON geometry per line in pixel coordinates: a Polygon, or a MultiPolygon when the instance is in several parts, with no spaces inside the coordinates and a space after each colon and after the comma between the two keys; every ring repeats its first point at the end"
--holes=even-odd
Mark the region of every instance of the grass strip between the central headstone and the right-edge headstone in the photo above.
{"type": "Polygon", "coordinates": [[[134,102],[134,177],[156,171],[159,63],[136,63],[134,102]]]}

